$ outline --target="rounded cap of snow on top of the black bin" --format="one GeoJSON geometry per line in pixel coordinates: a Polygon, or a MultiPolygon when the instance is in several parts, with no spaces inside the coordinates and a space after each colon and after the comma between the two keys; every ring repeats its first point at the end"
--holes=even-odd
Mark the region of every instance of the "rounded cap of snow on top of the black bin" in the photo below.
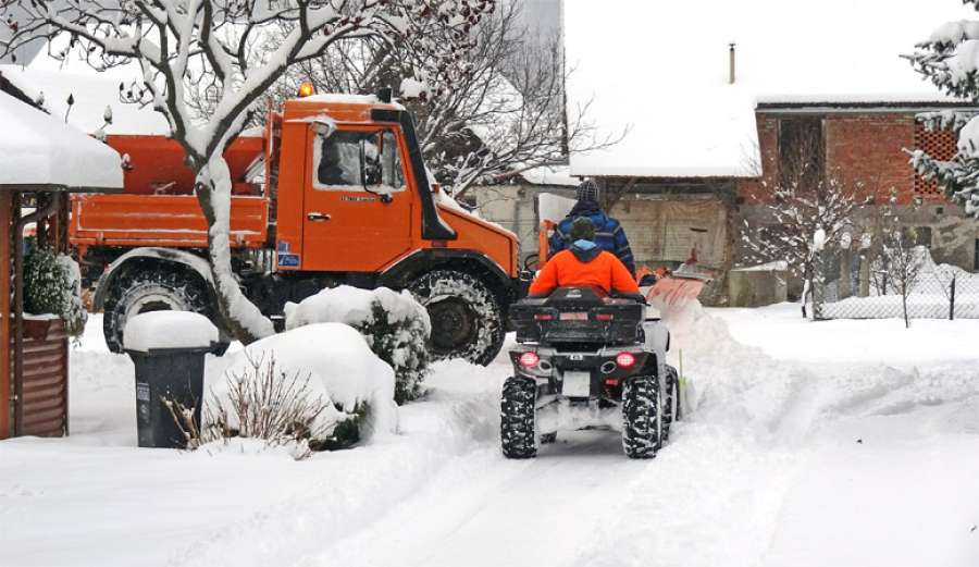
{"type": "Polygon", "coordinates": [[[149,311],[126,321],[123,346],[148,353],[179,348],[210,348],[218,342],[218,328],[207,317],[189,311],[149,311]]]}

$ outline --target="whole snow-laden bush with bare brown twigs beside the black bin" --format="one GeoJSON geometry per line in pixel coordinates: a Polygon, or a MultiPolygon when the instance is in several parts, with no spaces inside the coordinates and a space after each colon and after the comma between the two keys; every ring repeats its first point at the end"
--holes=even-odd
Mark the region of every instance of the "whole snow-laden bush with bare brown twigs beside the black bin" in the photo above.
{"type": "Polygon", "coordinates": [[[240,436],[340,448],[397,430],[394,372],[346,324],[314,323],[257,341],[209,391],[205,443],[240,436]]]}

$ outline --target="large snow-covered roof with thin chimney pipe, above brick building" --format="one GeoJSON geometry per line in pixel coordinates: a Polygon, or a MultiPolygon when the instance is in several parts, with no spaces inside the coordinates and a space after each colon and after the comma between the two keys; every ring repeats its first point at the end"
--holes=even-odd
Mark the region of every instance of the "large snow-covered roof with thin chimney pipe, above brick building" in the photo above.
{"type": "Polygon", "coordinates": [[[571,173],[752,176],[760,102],[946,101],[900,56],[975,16],[959,0],[566,2],[569,108],[591,101],[608,133],[631,126],[572,156],[571,173]]]}

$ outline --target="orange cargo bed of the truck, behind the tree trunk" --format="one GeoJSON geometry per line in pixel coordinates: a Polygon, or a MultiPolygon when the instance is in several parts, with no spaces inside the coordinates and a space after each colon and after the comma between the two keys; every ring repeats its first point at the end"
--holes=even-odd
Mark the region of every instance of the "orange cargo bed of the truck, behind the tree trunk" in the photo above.
{"type": "MultiPolygon", "coordinates": [[[[116,195],[73,195],[72,244],[203,248],[208,227],[194,190],[194,173],[184,151],[162,136],[109,136],[128,156],[124,189],[116,195]]],[[[261,156],[260,137],[235,140],[225,152],[234,183],[232,246],[261,247],[269,234],[269,200],[246,183],[245,172],[261,156]]]]}

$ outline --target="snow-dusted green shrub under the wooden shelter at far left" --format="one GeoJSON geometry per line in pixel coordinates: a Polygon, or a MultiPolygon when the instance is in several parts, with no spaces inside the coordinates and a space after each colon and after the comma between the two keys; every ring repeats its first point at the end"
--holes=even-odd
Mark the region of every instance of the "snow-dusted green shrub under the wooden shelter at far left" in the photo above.
{"type": "Polygon", "coordinates": [[[34,248],[24,259],[24,309],[33,315],[57,315],[70,336],[80,335],[88,313],[82,304],[78,264],[50,248],[34,248]]]}

